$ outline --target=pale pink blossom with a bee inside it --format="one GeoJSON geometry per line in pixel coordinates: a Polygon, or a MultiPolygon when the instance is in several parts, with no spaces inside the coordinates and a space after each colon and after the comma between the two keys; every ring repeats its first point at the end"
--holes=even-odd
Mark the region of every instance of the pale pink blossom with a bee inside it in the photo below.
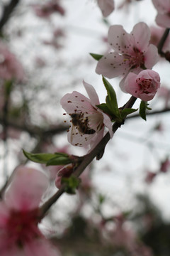
{"type": "Polygon", "coordinates": [[[84,82],[89,98],[79,92],[67,93],[60,103],[72,117],[68,131],[68,141],[74,146],[96,146],[103,137],[106,126],[113,137],[111,119],[96,107],[100,102],[92,85],[84,82]]]}

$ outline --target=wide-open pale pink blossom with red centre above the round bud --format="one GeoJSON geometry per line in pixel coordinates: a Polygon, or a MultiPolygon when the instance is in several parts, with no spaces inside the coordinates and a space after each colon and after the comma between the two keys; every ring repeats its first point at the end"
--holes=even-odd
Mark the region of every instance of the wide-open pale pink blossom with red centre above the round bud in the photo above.
{"type": "MultiPolygon", "coordinates": [[[[158,60],[157,47],[149,45],[150,31],[146,23],[137,23],[131,33],[123,26],[113,25],[108,30],[108,43],[114,51],[103,55],[98,61],[96,73],[115,78],[124,78],[131,71],[140,73],[144,68],[152,68],[158,60]]],[[[124,80],[120,82],[120,87],[124,80]]]]}

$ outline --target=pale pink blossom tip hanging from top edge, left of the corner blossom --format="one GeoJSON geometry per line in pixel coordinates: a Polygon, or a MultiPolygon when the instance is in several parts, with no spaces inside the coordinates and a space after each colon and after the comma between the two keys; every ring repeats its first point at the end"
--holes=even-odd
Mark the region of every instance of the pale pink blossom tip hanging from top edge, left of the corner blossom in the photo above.
{"type": "Polygon", "coordinates": [[[114,0],[97,0],[98,6],[101,9],[103,17],[110,15],[115,9],[114,0]]]}

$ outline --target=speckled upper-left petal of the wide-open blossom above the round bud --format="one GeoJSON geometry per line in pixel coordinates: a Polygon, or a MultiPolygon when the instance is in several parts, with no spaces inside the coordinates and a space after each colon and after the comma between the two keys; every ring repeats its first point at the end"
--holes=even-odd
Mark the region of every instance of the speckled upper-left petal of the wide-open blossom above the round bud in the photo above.
{"type": "Polygon", "coordinates": [[[125,31],[123,26],[113,25],[108,30],[108,43],[113,50],[119,53],[129,53],[132,46],[132,36],[125,31]]]}

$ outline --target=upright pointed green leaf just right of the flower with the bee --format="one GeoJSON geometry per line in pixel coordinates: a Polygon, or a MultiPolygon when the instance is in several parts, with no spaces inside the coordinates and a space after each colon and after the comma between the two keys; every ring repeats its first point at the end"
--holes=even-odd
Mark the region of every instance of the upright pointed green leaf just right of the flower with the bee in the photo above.
{"type": "Polygon", "coordinates": [[[118,110],[118,102],[115,94],[115,90],[106,78],[103,77],[103,84],[106,87],[108,95],[106,96],[106,105],[108,110],[113,114],[113,118],[116,117],[116,121],[121,122],[120,111],[118,110]]]}

